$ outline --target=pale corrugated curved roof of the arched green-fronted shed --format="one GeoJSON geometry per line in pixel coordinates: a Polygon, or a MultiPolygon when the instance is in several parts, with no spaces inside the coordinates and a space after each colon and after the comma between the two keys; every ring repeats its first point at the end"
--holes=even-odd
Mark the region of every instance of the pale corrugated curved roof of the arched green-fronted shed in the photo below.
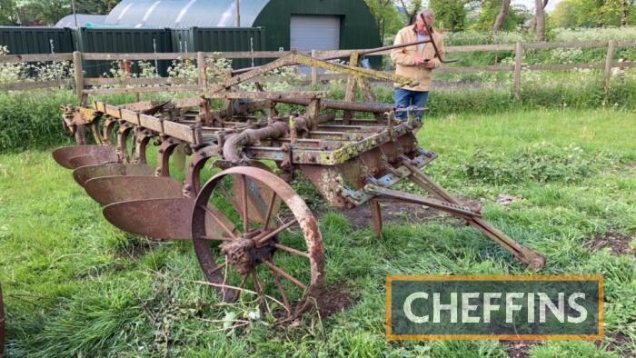
{"type": "MultiPolygon", "coordinates": [[[[269,0],[241,0],[241,26],[250,27],[269,0]]],[[[234,0],[123,0],[105,25],[235,27],[234,0]]]]}

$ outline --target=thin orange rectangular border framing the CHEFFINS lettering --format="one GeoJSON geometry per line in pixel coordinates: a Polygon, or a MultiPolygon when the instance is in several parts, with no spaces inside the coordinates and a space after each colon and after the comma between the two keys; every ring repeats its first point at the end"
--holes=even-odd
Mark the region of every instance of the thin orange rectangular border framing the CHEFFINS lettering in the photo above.
{"type": "Polygon", "coordinates": [[[502,341],[600,341],[604,335],[605,288],[603,276],[563,275],[563,276],[386,276],[386,340],[387,341],[432,341],[432,340],[502,340],[502,341]],[[598,281],[599,283],[599,334],[393,334],[391,330],[391,293],[393,280],[396,281],[598,281]]]}

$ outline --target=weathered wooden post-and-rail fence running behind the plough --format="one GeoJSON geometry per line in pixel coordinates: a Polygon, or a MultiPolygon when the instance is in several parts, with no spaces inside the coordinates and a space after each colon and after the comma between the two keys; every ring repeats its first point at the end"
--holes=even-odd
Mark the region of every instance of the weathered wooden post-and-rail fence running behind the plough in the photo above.
{"type": "MultiPolygon", "coordinates": [[[[513,51],[515,53],[514,65],[479,65],[479,66],[453,66],[445,65],[435,70],[437,74],[466,74],[479,72],[512,72],[513,86],[512,94],[515,99],[519,99],[522,87],[522,71],[552,71],[552,70],[571,70],[576,68],[591,68],[603,70],[603,84],[605,88],[609,88],[611,79],[611,69],[614,67],[628,68],[636,67],[636,62],[619,63],[614,60],[617,48],[636,48],[636,43],[621,42],[594,42],[594,43],[532,43],[532,44],[504,44],[504,45],[467,45],[467,46],[449,46],[446,47],[448,54],[452,53],[473,53],[473,52],[497,52],[497,51],[513,51]],[[555,49],[555,48],[607,48],[607,55],[604,63],[589,64],[542,64],[542,65],[522,65],[523,55],[527,49],[555,49]]],[[[334,50],[334,51],[312,51],[314,57],[333,57],[339,56],[348,58],[353,51],[356,50],[334,50]]],[[[165,53],[165,54],[84,54],[75,52],[73,54],[55,54],[55,55],[1,55],[0,64],[7,63],[25,63],[25,62],[56,62],[56,61],[72,61],[75,65],[75,91],[81,99],[87,94],[114,94],[114,93],[149,93],[149,92],[198,92],[204,90],[207,85],[205,79],[205,70],[201,64],[206,59],[238,59],[238,58],[280,58],[289,52],[283,51],[263,51],[263,52],[232,52],[232,53],[165,53]],[[159,60],[185,60],[195,59],[198,64],[198,83],[189,85],[183,79],[156,77],[156,78],[130,78],[125,80],[125,85],[137,85],[136,87],[122,88],[87,88],[99,85],[121,85],[121,80],[115,78],[84,78],[84,62],[85,61],[159,61],[159,60]],[[160,85],[151,87],[140,87],[139,85],[160,85]]],[[[308,53],[309,54],[309,53],[308,53]]],[[[389,51],[377,53],[375,55],[389,55],[389,51]]],[[[307,78],[308,83],[315,84],[318,81],[343,79],[346,75],[331,74],[319,75],[318,71],[313,68],[312,74],[307,78]]],[[[272,82],[275,78],[257,78],[253,81],[272,82]]],[[[0,90],[19,91],[33,88],[58,87],[60,85],[71,85],[66,81],[47,81],[47,82],[21,82],[14,84],[0,85],[0,90]]]]}

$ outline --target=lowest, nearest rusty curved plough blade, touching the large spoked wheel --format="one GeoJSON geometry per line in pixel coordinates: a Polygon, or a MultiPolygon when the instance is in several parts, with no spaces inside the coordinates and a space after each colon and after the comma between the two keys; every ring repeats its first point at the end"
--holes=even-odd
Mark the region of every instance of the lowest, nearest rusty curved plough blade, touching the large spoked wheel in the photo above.
{"type": "MultiPolygon", "coordinates": [[[[194,199],[190,198],[136,200],[105,206],[104,217],[128,233],[161,240],[190,240],[193,209],[194,199]]],[[[223,237],[223,230],[213,219],[206,219],[205,226],[208,233],[223,237]]]]}

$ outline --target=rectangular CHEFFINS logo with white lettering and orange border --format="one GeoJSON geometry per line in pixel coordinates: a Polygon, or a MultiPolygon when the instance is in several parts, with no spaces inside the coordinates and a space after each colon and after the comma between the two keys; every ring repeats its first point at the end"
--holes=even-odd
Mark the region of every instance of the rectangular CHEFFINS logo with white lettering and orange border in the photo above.
{"type": "Polygon", "coordinates": [[[389,276],[389,340],[599,340],[601,276],[389,276]]]}

